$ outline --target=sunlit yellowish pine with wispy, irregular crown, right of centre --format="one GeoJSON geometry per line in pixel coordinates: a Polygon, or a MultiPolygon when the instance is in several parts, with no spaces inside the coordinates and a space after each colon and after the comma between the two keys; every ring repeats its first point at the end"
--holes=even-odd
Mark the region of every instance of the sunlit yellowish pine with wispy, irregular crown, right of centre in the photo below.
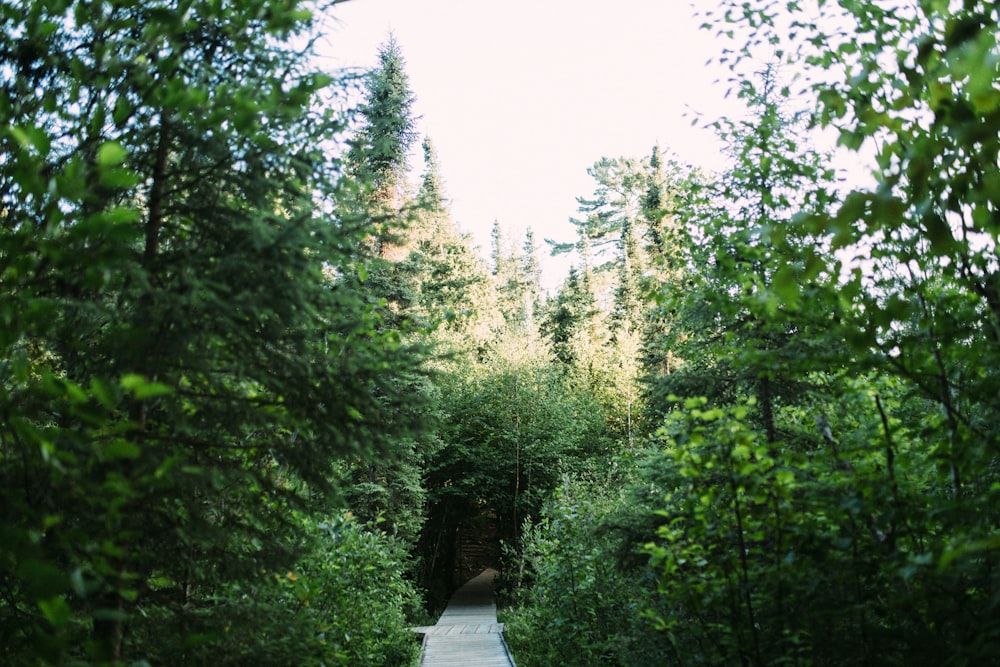
{"type": "Polygon", "coordinates": [[[613,428],[629,443],[634,443],[644,413],[640,360],[653,337],[650,295],[658,270],[653,267],[666,261],[662,255],[676,243],[667,215],[676,195],[668,191],[668,182],[677,183],[676,188],[690,178],[679,166],[670,166],[668,181],[658,148],[642,160],[602,158],[588,170],[597,182],[593,197],[578,198],[584,216],[572,220],[576,242],[550,242],[554,254],[571,249],[580,253],[574,281],[585,281],[600,316],[576,328],[576,351],[569,354],[563,339],[571,321],[567,306],[584,284],[577,282],[567,285],[565,299],[557,298],[545,330],[555,336],[557,354],[578,364],[574,370],[579,380],[600,396],[613,428]]]}

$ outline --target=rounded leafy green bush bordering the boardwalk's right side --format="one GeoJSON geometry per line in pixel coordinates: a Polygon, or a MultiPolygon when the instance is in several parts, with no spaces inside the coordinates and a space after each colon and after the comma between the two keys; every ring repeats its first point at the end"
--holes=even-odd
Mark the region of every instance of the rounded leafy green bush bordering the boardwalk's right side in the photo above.
{"type": "Polygon", "coordinates": [[[524,581],[505,616],[522,667],[565,665],[567,656],[582,665],[663,663],[666,644],[646,615],[655,579],[644,564],[621,559],[611,529],[630,512],[620,488],[567,482],[542,521],[525,528],[524,581]]]}

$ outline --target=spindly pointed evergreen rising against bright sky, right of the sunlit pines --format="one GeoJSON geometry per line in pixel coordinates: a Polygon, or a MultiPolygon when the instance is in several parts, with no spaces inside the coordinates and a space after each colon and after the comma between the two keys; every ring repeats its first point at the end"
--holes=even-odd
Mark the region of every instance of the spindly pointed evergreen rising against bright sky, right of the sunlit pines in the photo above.
{"type": "Polygon", "coordinates": [[[806,333],[778,304],[797,289],[815,250],[788,228],[793,215],[830,201],[824,186],[833,180],[829,158],[803,148],[803,119],[787,111],[781,92],[768,68],[741,83],[752,118],[717,124],[733,166],[684,211],[684,287],[662,292],[664,309],[683,323],[659,343],[683,363],[653,389],[662,409],[668,395],[729,402],[750,391],[772,442],[782,397],[805,391],[805,375],[781,367],[803,352],[806,333]]]}

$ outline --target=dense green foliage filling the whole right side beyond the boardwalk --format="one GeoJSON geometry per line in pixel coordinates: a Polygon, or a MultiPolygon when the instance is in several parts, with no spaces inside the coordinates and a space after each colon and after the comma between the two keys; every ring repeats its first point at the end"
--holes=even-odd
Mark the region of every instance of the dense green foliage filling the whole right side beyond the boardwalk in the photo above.
{"type": "Polygon", "coordinates": [[[590,664],[995,659],[998,20],[979,2],[706,13],[736,40],[720,60],[748,115],[714,124],[727,171],[659,199],[675,246],[646,302],[627,509],[567,528],[578,503],[554,500],[526,533],[521,664],[570,645],[590,664]],[[822,128],[873,156],[870,181],[838,182],[808,145],[822,128]],[[623,640],[605,610],[628,574],[623,640]]]}

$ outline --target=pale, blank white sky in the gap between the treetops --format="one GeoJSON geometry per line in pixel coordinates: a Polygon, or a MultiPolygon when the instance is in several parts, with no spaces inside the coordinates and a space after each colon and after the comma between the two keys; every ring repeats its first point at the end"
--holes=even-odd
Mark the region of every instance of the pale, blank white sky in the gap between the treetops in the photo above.
{"type": "MultiPolygon", "coordinates": [[[[586,170],[602,156],[658,143],[721,165],[714,135],[691,121],[735,107],[717,82],[726,72],[705,64],[721,44],[693,13],[688,0],[351,0],[324,51],[368,68],[395,35],[453,218],[486,253],[494,220],[518,243],[526,227],[539,242],[573,240],[576,197],[593,193],[586,170]]],[[[554,287],[566,266],[542,254],[554,287]]]]}

